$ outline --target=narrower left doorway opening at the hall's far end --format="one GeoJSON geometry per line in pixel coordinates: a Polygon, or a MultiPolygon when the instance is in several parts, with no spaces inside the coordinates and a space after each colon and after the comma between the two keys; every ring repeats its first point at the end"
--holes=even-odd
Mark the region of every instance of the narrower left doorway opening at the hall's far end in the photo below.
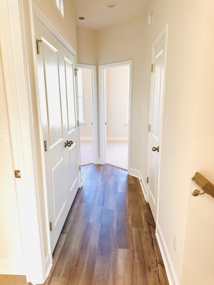
{"type": "Polygon", "coordinates": [[[96,66],[78,64],[78,114],[81,166],[97,164],[97,88],[96,66]]]}

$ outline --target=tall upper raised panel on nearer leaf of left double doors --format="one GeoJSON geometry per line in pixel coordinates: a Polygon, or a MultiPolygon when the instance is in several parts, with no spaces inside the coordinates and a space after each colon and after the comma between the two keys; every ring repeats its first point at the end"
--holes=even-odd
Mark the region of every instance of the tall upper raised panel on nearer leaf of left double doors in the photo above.
{"type": "Polygon", "coordinates": [[[63,139],[58,50],[43,39],[49,148],[63,139]]]}

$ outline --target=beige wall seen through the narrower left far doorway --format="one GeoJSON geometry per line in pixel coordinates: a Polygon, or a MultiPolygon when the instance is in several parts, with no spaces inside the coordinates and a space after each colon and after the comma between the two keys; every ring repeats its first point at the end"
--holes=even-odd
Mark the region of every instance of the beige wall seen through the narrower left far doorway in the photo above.
{"type": "Polygon", "coordinates": [[[82,93],[83,93],[83,120],[85,125],[80,125],[80,137],[92,137],[92,71],[82,68],[82,93]]]}

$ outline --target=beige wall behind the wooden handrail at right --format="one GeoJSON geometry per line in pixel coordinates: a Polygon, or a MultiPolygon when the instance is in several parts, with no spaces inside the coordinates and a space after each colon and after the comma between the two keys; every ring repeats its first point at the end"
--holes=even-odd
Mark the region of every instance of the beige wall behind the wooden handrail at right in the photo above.
{"type": "MultiPolygon", "coordinates": [[[[203,50],[191,175],[200,172],[214,184],[214,34],[211,29],[214,27],[213,11],[214,2],[208,0],[204,35],[201,37],[203,50]]],[[[193,197],[191,191],[194,189],[199,188],[191,181],[181,285],[213,285],[214,198],[207,194],[193,197]]]]}

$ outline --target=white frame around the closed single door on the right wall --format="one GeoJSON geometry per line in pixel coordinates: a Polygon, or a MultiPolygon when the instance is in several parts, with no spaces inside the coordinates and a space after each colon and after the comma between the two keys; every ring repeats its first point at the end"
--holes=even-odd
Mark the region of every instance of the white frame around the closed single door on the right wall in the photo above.
{"type": "MultiPolygon", "coordinates": [[[[165,77],[164,77],[164,87],[163,87],[163,97],[162,97],[162,114],[161,114],[161,131],[160,131],[160,143],[159,143],[159,164],[158,164],[158,185],[157,185],[157,217],[156,217],[156,227],[158,225],[159,218],[159,198],[160,198],[160,173],[161,173],[161,154],[162,154],[162,130],[163,130],[163,117],[164,117],[164,100],[165,100],[165,78],[166,78],[166,60],[167,60],[167,44],[168,44],[168,23],[166,23],[164,29],[160,32],[156,40],[152,44],[152,52],[151,52],[151,64],[153,64],[154,60],[154,48],[160,43],[160,41],[165,36],[165,77]]],[[[148,124],[151,124],[151,115],[152,115],[152,92],[153,92],[153,80],[154,73],[151,73],[150,80],[150,98],[149,98],[149,121],[148,124]]],[[[147,176],[149,177],[149,169],[150,169],[150,132],[148,132],[148,159],[147,159],[147,176]]],[[[147,184],[147,201],[149,195],[149,184],[147,184]]]]}

